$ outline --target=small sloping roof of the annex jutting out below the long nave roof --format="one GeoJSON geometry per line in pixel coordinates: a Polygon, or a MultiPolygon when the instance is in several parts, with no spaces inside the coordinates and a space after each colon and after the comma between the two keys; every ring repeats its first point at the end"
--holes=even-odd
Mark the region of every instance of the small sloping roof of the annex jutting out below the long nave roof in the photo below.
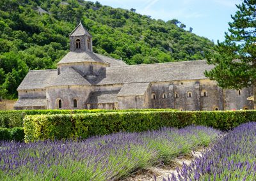
{"type": "Polygon", "coordinates": [[[125,83],[117,96],[141,96],[148,89],[149,83],[125,83]]]}

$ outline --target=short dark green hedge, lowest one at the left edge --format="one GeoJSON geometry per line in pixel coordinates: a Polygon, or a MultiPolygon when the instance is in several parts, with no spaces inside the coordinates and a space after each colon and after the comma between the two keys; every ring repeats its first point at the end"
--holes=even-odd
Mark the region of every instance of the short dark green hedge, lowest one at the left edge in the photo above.
{"type": "Polygon", "coordinates": [[[23,127],[12,129],[0,127],[0,140],[24,141],[25,133],[23,127]]]}

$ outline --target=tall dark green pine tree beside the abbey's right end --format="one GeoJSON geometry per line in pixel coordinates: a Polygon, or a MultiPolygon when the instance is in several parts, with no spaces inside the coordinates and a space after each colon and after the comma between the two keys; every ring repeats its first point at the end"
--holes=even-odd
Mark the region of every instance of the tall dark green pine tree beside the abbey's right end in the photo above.
{"type": "Polygon", "coordinates": [[[256,0],[244,0],[236,6],[238,10],[231,16],[233,22],[228,23],[225,41],[218,41],[215,51],[206,56],[215,68],[205,71],[205,76],[225,89],[253,85],[256,98],[256,0]]]}

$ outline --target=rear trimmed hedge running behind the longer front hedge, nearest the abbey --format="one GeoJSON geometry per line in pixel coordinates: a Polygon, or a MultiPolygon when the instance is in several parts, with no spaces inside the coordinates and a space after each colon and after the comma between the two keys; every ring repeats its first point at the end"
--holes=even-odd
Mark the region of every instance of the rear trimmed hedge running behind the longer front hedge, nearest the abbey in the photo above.
{"type": "Polygon", "coordinates": [[[22,127],[25,115],[52,115],[71,113],[97,113],[97,112],[145,112],[145,111],[174,111],[170,109],[148,110],[17,110],[0,111],[0,127],[22,127]]]}

